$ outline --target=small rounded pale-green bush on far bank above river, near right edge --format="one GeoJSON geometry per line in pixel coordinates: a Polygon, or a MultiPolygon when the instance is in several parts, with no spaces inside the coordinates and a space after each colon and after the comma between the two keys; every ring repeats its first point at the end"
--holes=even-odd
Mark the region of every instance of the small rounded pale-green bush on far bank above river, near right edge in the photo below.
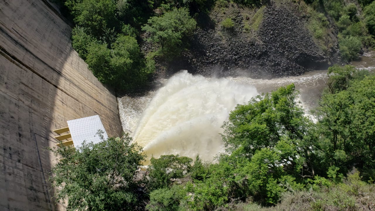
{"type": "Polygon", "coordinates": [[[341,56],[345,60],[350,61],[352,59],[358,59],[362,43],[360,39],[358,39],[355,36],[347,36],[345,38],[340,39],[339,47],[341,56]]]}

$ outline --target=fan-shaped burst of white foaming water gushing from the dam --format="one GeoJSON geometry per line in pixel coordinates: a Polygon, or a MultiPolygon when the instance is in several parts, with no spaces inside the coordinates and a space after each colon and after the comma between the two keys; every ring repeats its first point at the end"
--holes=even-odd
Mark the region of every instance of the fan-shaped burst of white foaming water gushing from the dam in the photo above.
{"type": "Polygon", "coordinates": [[[211,160],[224,150],[219,133],[228,113],[256,95],[257,89],[249,84],[180,72],[156,92],[133,139],[155,157],[199,153],[211,160]]]}

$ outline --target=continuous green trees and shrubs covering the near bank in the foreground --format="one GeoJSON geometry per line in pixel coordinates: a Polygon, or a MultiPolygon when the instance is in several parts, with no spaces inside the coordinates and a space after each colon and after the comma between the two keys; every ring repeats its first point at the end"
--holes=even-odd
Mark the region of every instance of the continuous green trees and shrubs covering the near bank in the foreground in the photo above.
{"type": "Polygon", "coordinates": [[[136,180],[145,155],[128,135],[52,150],[62,158],[51,178],[57,199],[68,210],[373,209],[375,76],[353,66],[328,74],[316,123],[294,84],[237,105],[215,163],[162,155],[136,180]]]}

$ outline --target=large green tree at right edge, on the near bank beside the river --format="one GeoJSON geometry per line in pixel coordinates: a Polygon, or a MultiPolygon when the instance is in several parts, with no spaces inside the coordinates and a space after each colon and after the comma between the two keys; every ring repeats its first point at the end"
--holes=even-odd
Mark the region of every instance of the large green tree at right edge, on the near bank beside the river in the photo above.
{"type": "Polygon", "coordinates": [[[369,172],[375,167],[375,77],[363,76],[354,66],[333,66],[329,72],[333,73],[329,91],[314,112],[322,172],[330,166],[338,167],[340,173],[353,166],[369,172]]]}

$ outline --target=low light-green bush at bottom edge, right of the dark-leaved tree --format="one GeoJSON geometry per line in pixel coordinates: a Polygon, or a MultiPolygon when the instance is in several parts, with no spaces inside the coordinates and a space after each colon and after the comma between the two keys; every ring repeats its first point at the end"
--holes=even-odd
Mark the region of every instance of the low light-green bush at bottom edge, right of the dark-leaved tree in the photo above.
{"type": "Polygon", "coordinates": [[[149,211],[178,211],[180,200],[186,196],[186,190],[180,185],[171,188],[160,188],[150,193],[150,202],[146,209],[149,211]]]}

